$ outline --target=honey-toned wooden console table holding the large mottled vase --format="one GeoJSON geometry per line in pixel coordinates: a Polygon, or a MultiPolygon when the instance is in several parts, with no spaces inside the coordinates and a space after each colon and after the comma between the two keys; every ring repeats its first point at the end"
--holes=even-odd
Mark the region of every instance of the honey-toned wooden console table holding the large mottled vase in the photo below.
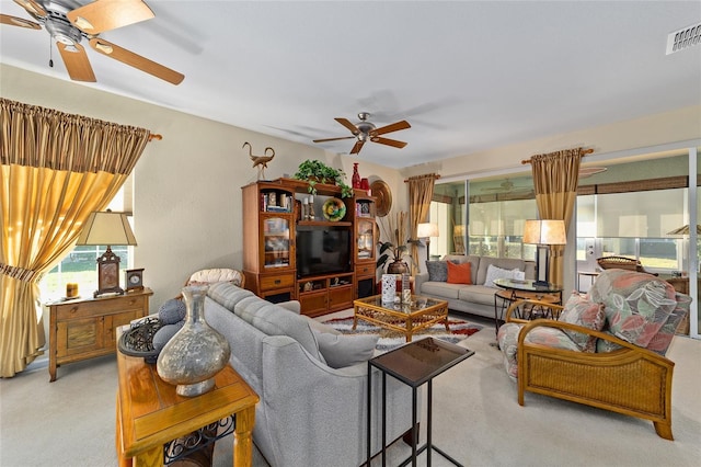
{"type": "Polygon", "coordinates": [[[161,467],[163,445],[203,426],[235,417],[233,466],[253,463],[251,433],[260,398],[243,378],[227,365],[215,376],[215,388],[197,397],[175,394],[143,358],[117,352],[116,447],[119,466],[161,467]],[[134,464],[131,463],[134,460],[134,464]]]}

